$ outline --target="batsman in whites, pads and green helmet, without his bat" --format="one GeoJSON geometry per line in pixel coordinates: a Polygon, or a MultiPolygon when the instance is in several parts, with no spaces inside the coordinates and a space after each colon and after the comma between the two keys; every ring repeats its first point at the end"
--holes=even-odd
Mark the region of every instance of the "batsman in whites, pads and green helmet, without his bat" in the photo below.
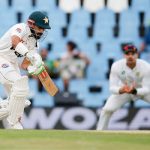
{"type": "Polygon", "coordinates": [[[28,77],[21,76],[18,58],[24,57],[21,67],[32,75],[43,71],[41,56],[37,53],[39,39],[50,29],[45,13],[33,12],[27,23],[12,26],[0,38],[0,83],[8,92],[8,101],[1,101],[0,120],[6,118],[8,128],[23,129],[20,117],[24,107],[30,104],[26,100],[29,92],[28,77]]]}

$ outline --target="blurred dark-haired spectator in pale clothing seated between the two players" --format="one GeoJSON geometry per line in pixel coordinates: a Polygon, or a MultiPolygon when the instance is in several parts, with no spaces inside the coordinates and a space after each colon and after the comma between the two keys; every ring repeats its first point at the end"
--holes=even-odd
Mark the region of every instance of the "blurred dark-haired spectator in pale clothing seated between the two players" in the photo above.
{"type": "Polygon", "coordinates": [[[69,92],[69,83],[73,78],[83,78],[90,64],[89,58],[73,41],[67,42],[67,51],[61,56],[60,76],[63,79],[64,92],[69,92]]]}

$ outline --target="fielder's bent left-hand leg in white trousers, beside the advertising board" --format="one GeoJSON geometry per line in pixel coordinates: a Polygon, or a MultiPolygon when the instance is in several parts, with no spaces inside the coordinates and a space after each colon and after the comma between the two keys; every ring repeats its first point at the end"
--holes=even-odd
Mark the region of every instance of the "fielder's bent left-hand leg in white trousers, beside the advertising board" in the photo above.
{"type": "Polygon", "coordinates": [[[121,108],[129,100],[129,94],[111,95],[101,110],[97,130],[106,130],[112,113],[121,108]]]}

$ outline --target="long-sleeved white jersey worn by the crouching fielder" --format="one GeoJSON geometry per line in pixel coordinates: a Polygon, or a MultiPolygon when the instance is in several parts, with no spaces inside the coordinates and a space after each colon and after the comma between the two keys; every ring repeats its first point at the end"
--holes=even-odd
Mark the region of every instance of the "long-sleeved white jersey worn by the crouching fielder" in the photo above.
{"type": "Polygon", "coordinates": [[[126,59],[113,63],[110,73],[110,91],[119,94],[123,85],[135,85],[137,95],[143,96],[150,93],[150,64],[137,59],[136,66],[131,69],[126,65],[126,59]]]}

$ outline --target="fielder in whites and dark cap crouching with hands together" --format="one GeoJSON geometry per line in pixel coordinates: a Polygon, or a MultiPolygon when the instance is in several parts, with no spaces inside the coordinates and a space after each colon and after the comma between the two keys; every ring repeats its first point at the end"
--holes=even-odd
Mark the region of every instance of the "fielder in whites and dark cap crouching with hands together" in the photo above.
{"type": "Polygon", "coordinates": [[[97,130],[106,130],[113,112],[125,103],[143,99],[150,102],[150,65],[137,59],[137,48],[127,45],[123,48],[125,59],[112,65],[110,91],[112,95],[101,110],[97,130]]]}

